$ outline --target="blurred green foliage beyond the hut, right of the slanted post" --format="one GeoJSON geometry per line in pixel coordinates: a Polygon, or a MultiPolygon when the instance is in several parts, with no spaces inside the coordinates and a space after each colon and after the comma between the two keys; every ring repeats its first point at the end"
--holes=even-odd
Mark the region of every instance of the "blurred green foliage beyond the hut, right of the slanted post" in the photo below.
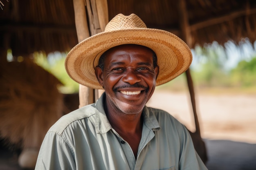
{"type": "Polygon", "coordinates": [[[253,88],[256,85],[256,56],[253,57],[253,53],[247,54],[251,56],[240,54],[240,62],[230,70],[226,68],[226,64],[231,59],[228,60],[226,50],[216,42],[204,47],[196,46],[193,52],[194,59],[198,62],[191,66],[195,86],[253,88]],[[244,60],[248,58],[252,60],[244,60]]]}

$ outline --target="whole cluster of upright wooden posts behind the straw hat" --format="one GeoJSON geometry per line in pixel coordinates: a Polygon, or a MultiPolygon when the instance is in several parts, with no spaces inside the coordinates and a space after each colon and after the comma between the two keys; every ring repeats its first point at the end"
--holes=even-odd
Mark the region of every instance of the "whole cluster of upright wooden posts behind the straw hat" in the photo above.
{"type": "MultiPolygon", "coordinates": [[[[107,0],[73,0],[78,41],[104,31],[108,23],[107,0]],[[88,19],[85,12],[88,12],[88,19]],[[88,25],[89,23],[89,25],[88,25]],[[90,27],[90,31],[89,31],[90,27]]],[[[79,108],[95,102],[103,91],[79,85],[79,108]]]]}

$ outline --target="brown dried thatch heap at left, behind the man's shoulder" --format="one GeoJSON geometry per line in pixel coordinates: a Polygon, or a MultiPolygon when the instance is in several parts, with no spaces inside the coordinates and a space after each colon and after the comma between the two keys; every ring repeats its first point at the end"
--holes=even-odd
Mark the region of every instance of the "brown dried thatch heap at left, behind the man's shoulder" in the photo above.
{"type": "Polygon", "coordinates": [[[0,137],[21,148],[39,148],[63,114],[61,84],[29,57],[0,63],[0,137]]]}

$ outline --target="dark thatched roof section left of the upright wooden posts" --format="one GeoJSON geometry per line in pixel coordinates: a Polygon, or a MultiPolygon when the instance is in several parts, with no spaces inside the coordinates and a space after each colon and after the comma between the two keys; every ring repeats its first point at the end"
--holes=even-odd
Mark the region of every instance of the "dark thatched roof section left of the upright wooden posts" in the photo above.
{"type": "Polygon", "coordinates": [[[78,42],[72,0],[10,0],[0,11],[0,23],[0,46],[14,56],[65,52],[78,42]]]}

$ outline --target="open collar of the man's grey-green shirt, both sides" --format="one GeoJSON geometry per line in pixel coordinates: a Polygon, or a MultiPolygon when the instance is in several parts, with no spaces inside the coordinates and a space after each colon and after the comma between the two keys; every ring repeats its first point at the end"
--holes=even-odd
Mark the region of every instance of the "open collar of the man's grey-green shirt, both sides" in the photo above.
{"type": "MultiPolygon", "coordinates": [[[[96,108],[96,113],[95,113],[96,132],[100,134],[106,133],[112,128],[104,110],[105,101],[106,101],[106,94],[103,93],[101,97],[95,102],[95,104],[92,104],[92,106],[96,108]]],[[[155,115],[150,112],[151,111],[148,109],[147,106],[143,108],[142,114],[144,117],[144,124],[149,129],[152,129],[153,131],[157,131],[160,129],[159,123],[155,115]]]]}

